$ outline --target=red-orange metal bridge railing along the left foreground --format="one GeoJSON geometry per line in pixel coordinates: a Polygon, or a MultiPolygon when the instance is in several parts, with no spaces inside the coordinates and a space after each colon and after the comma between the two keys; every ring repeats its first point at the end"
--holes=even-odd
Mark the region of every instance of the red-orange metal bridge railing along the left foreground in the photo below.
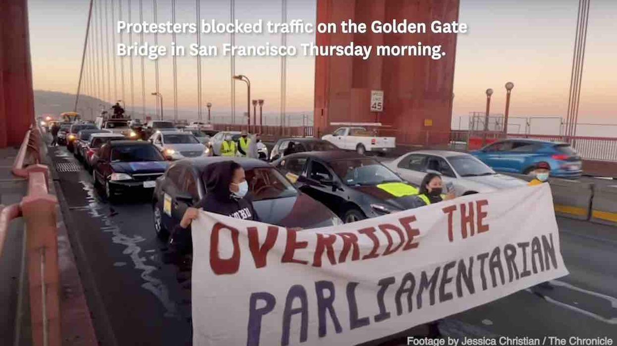
{"type": "Polygon", "coordinates": [[[10,221],[23,217],[27,232],[32,344],[60,346],[62,337],[56,226],[58,201],[56,196],[49,194],[48,167],[39,164],[41,148],[43,135],[38,127],[33,127],[26,133],[12,167],[14,175],[28,180],[27,195],[19,204],[0,206],[0,255],[10,221]]]}

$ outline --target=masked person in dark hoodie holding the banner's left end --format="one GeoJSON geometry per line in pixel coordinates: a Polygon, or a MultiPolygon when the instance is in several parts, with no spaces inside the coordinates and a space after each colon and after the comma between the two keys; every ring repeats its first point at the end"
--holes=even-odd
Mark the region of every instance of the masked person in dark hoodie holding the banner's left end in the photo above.
{"type": "Polygon", "coordinates": [[[191,252],[193,238],[191,223],[197,219],[199,209],[236,219],[259,221],[252,199],[247,196],[249,184],[244,169],[234,161],[209,164],[201,177],[207,191],[205,198],[196,207],[184,212],[180,225],[173,228],[169,239],[169,262],[176,262],[181,255],[191,252]]]}

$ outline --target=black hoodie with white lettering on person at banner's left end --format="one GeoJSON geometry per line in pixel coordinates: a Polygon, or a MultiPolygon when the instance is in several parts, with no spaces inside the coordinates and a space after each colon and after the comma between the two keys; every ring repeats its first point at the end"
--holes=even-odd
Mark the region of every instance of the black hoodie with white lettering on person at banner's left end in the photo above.
{"type": "Polygon", "coordinates": [[[199,207],[215,214],[235,217],[236,219],[259,221],[248,196],[238,198],[230,191],[233,170],[239,167],[233,161],[209,164],[201,176],[206,194],[199,207]]]}

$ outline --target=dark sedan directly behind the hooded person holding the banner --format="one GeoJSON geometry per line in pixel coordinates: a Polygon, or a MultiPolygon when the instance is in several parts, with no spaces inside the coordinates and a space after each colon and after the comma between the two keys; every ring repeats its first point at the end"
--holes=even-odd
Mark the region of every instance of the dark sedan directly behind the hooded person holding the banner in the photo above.
{"type": "MultiPolygon", "coordinates": [[[[184,211],[204,198],[202,173],[209,164],[230,158],[183,159],[157,179],[152,208],[155,231],[164,239],[180,223],[184,211]]],[[[249,195],[262,222],[282,227],[315,228],[338,225],[341,220],[323,204],[298,191],[269,164],[258,159],[234,158],[246,173],[249,195]]]]}

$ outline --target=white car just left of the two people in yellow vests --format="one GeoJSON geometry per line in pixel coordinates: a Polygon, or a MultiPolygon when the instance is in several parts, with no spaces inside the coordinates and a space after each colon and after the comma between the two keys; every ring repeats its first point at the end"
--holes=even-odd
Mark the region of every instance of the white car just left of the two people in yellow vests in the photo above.
{"type": "Polygon", "coordinates": [[[166,159],[179,160],[209,156],[209,149],[189,132],[164,131],[152,135],[149,141],[166,159]]]}

